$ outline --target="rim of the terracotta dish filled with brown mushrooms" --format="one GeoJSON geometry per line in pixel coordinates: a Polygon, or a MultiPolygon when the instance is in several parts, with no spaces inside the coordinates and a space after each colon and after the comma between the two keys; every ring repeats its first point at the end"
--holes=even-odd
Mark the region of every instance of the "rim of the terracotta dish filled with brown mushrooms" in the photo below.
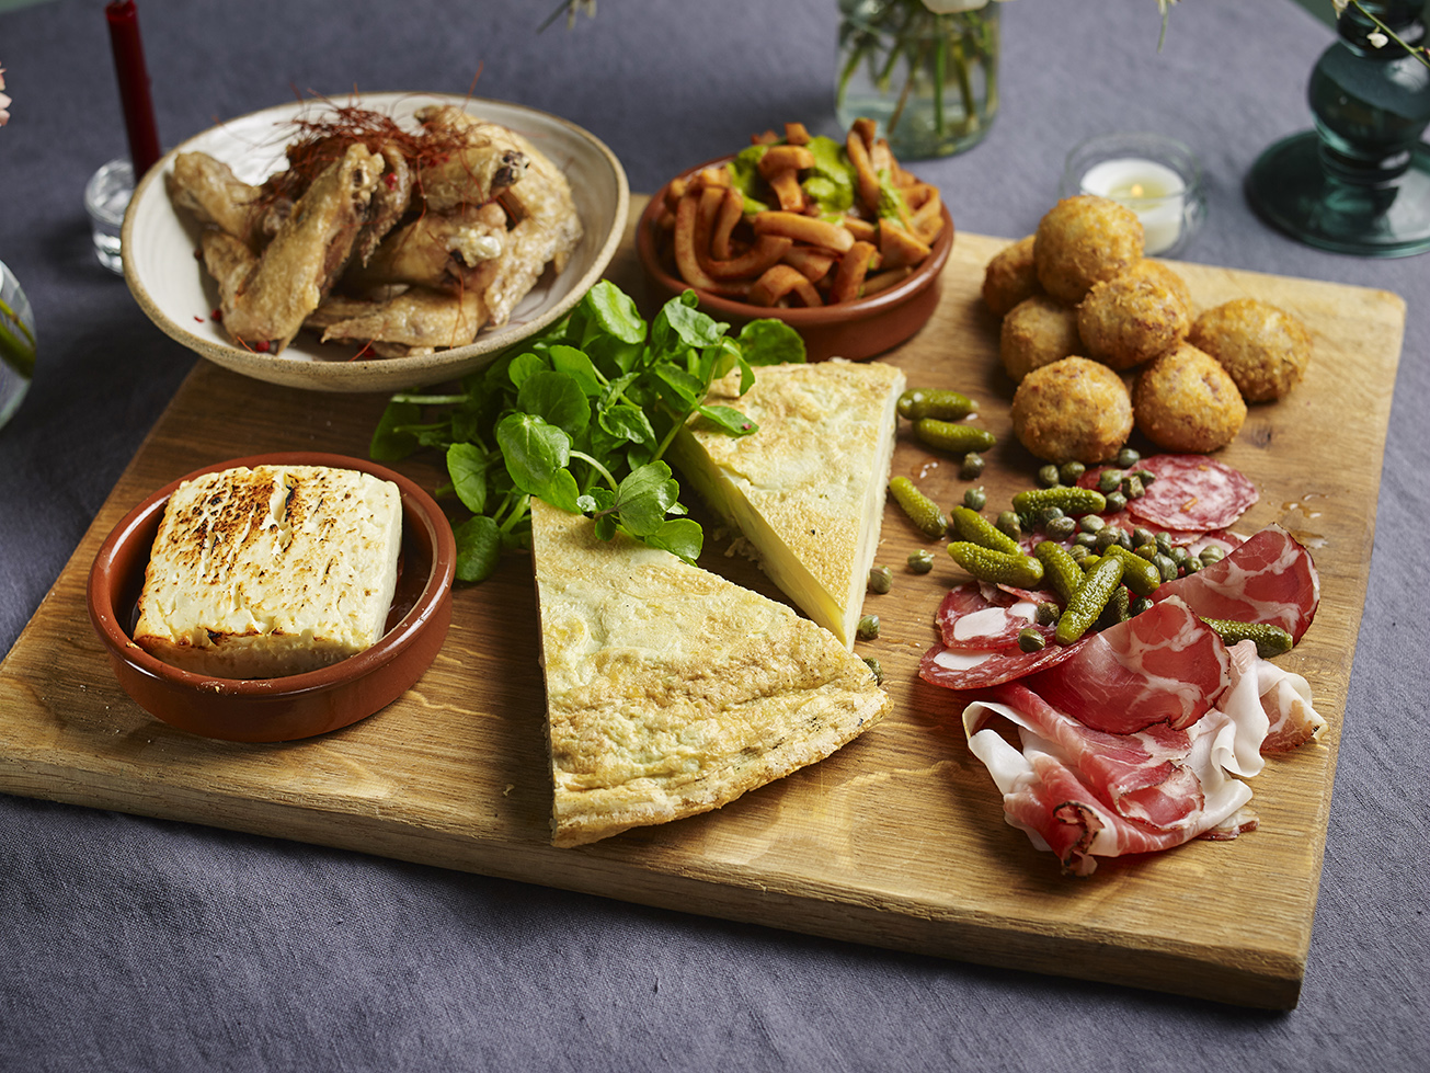
{"type": "MultiPolygon", "coordinates": [[[[706,167],[718,167],[719,165],[734,160],[734,156],[718,156],[714,160],[706,160],[704,165],[691,167],[672,179],[689,179],[692,175],[704,172],[706,167]]],[[[756,306],[748,302],[736,302],[722,295],[712,295],[709,290],[702,290],[701,288],[694,288],[686,283],[679,276],[672,276],[665,270],[661,263],[661,256],[656,252],[656,216],[661,213],[661,206],[665,202],[665,192],[671,189],[671,183],[666,183],[651,197],[645,210],[641,213],[641,219],[636,225],[635,245],[636,253],[641,258],[641,266],[645,269],[646,275],[666,293],[679,295],[684,290],[694,290],[699,295],[701,306],[706,312],[718,312],[724,316],[741,318],[751,320],[762,316],[776,316],[791,328],[832,328],[838,325],[852,323],[855,320],[867,320],[885,313],[897,306],[904,305],[914,295],[919,293],[928,288],[938,273],[944,270],[944,265],[948,263],[948,255],[954,248],[954,217],[948,213],[948,206],[941,205],[940,212],[944,217],[944,226],[938,232],[938,237],[934,239],[932,252],[924,259],[924,262],[905,279],[902,283],[881,290],[872,298],[861,298],[854,302],[839,302],[837,305],[818,306],[815,309],[797,306],[789,309],[756,306]]]]}

